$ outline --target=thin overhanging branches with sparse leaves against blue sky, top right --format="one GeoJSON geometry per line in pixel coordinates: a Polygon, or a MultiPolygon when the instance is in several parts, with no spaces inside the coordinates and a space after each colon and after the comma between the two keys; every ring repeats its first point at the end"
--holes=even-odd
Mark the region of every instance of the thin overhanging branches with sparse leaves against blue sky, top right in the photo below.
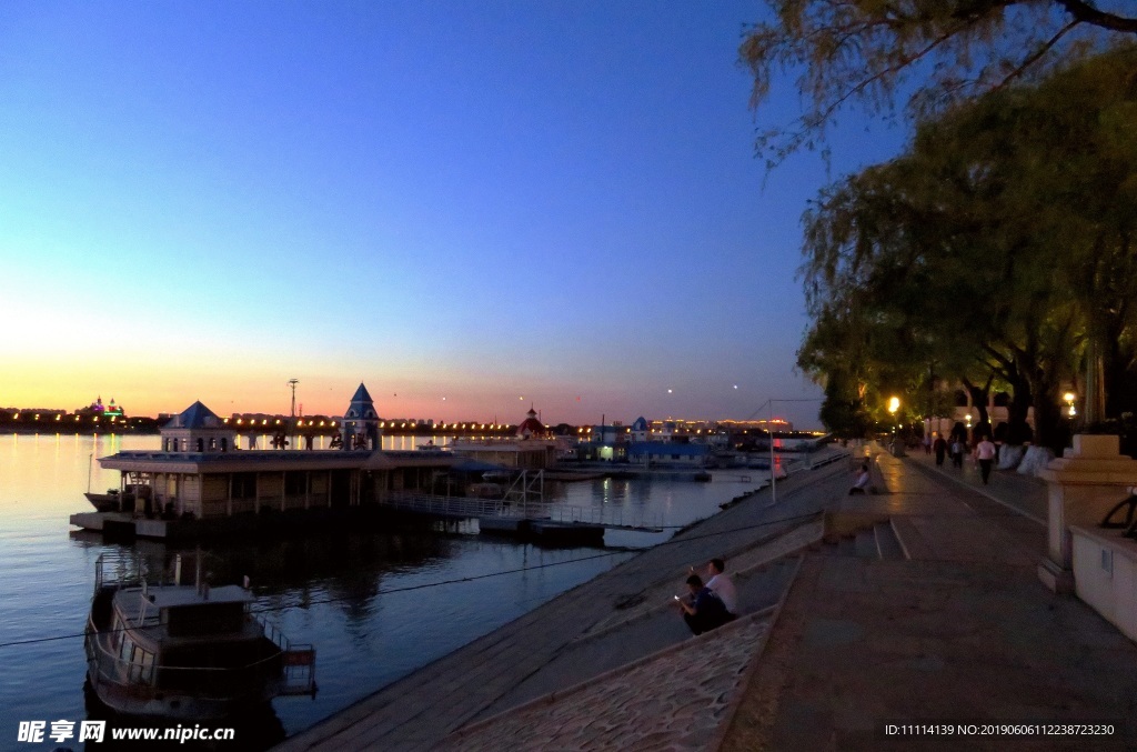
{"type": "Polygon", "coordinates": [[[760,108],[796,72],[806,111],[758,135],[767,166],[813,148],[846,104],[921,119],[1137,38],[1132,0],[767,0],[739,50],[760,108]]]}

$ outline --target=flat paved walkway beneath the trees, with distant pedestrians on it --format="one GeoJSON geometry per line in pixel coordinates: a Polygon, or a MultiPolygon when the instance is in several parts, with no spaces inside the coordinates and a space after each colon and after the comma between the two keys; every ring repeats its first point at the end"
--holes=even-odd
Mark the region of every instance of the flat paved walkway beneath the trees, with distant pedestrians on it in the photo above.
{"type": "MultiPolygon", "coordinates": [[[[1134,749],[1137,645],[1038,580],[1045,486],[880,455],[907,561],[805,559],[722,749],[1134,749]],[[954,474],[953,474],[954,473],[954,474]],[[887,736],[886,724],[1110,721],[1110,737],[887,736]]],[[[958,730],[958,727],[954,727],[958,730]]]]}

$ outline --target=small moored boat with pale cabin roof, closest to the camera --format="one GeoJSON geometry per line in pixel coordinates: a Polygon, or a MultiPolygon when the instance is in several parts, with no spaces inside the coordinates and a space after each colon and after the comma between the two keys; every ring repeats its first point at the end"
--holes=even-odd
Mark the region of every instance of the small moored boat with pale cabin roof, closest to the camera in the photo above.
{"type": "Polygon", "coordinates": [[[290,645],[251,614],[248,588],[210,588],[200,576],[196,586],[180,585],[180,556],[174,584],[151,584],[143,562],[105,556],[85,646],[91,688],[110,709],[207,720],[315,693],[315,648],[290,645]]]}

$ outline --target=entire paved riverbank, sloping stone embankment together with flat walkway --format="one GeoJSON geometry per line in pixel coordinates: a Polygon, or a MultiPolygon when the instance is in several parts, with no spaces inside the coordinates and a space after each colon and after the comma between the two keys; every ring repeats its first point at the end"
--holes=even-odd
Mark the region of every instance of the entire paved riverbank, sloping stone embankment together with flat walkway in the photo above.
{"type": "Polygon", "coordinates": [[[1135,717],[1137,646],[1037,579],[1045,486],[873,453],[792,476],[474,641],[282,750],[1126,749],[1110,737],[889,736],[887,725],[1135,717]],[[822,517],[825,515],[825,527],[822,517]],[[828,530],[828,540],[821,542],[828,530]],[[848,534],[848,535],[841,535],[848,534]],[[672,594],[725,556],[740,618],[672,594]]]}

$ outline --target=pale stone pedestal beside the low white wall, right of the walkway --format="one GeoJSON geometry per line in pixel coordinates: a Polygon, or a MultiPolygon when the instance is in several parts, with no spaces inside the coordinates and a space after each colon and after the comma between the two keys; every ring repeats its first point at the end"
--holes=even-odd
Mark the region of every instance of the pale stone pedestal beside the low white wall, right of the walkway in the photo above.
{"type": "Polygon", "coordinates": [[[1096,527],[1137,485],[1137,460],[1122,456],[1117,436],[1073,437],[1073,448],[1038,476],[1047,484],[1047,551],[1038,577],[1055,593],[1073,593],[1070,526],[1096,527]]]}

